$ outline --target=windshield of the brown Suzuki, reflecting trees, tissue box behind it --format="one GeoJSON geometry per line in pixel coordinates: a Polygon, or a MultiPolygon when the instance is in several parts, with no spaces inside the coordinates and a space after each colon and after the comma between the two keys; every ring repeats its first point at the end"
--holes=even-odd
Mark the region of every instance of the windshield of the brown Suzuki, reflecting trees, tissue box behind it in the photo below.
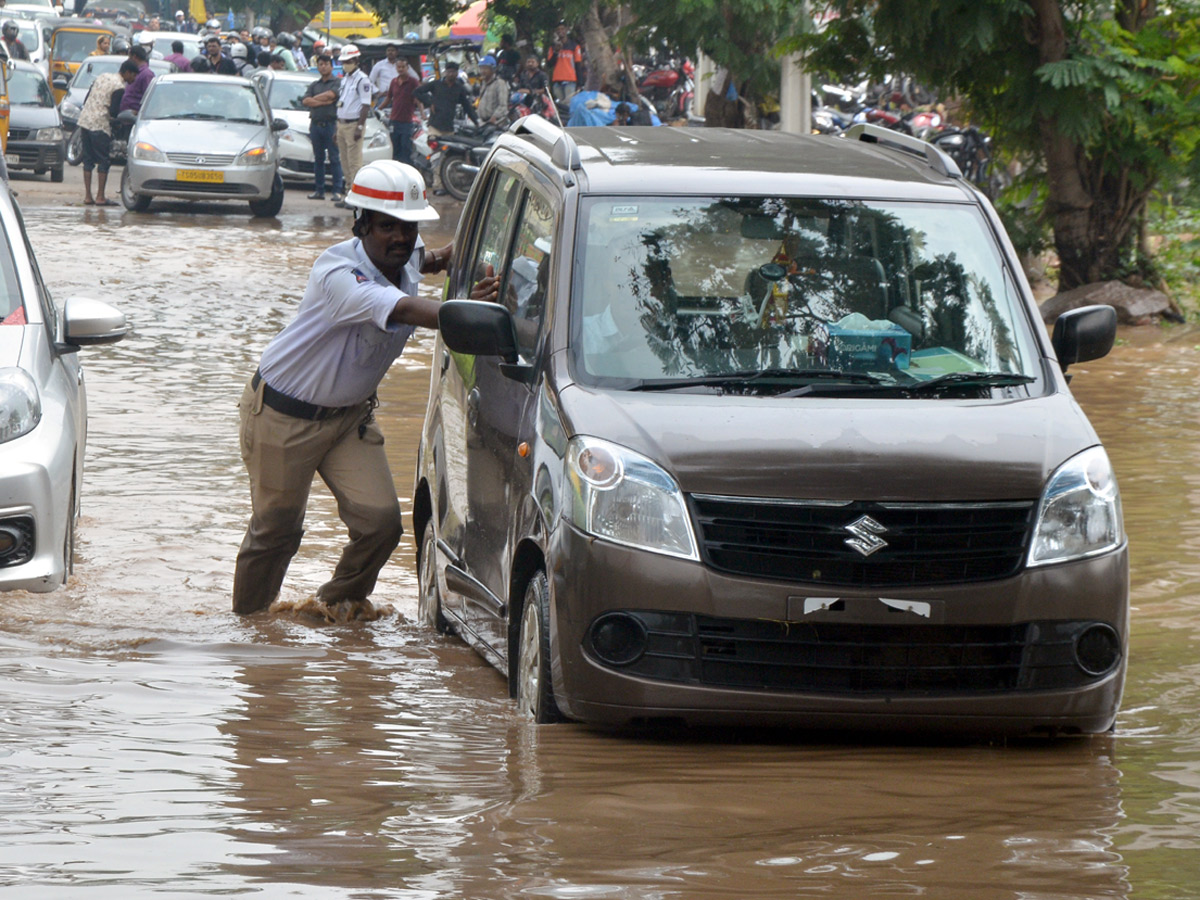
{"type": "Polygon", "coordinates": [[[780,391],[1037,374],[1015,288],[971,205],[592,198],[578,233],[571,344],[586,383],[780,391]]]}

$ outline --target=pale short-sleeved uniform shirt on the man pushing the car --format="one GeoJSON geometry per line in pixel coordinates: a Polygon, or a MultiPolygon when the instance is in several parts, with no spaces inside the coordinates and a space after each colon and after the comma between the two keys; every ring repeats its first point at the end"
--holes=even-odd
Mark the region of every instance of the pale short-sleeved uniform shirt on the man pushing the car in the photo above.
{"type": "Polygon", "coordinates": [[[416,239],[397,288],[352,238],[313,263],[295,318],[263,350],[258,371],[271,388],[322,407],[361,403],[396,361],[412,325],[388,317],[421,281],[425,244],[416,239]]]}

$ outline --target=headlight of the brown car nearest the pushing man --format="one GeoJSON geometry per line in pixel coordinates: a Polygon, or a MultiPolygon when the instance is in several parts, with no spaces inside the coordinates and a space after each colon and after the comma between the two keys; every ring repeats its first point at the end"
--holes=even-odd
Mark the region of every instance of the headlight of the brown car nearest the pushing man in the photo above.
{"type": "Polygon", "coordinates": [[[700,558],[683,493],[653,460],[607,440],[575,437],[565,464],[568,515],[577,528],[654,553],[700,558]]]}

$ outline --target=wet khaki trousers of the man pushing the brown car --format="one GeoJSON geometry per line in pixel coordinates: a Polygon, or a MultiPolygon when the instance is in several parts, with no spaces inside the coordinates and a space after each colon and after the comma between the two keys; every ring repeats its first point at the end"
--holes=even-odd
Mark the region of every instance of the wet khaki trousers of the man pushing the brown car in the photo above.
{"type": "Polygon", "coordinates": [[[264,610],[280,593],[304,535],[314,474],[329,486],[350,535],[317,596],[326,604],[366,599],[404,532],[372,403],[307,421],[263,406],[263,384],[254,390],[247,383],[238,403],[253,512],[238,551],[233,610],[264,610]]]}

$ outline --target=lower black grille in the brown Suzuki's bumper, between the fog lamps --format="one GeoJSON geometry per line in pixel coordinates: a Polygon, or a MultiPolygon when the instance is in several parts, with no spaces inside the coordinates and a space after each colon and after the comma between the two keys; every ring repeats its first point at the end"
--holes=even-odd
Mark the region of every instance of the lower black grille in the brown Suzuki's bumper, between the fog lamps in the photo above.
{"type": "Polygon", "coordinates": [[[1076,661],[1078,638],[1090,629],[1108,630],[1092,622],[866,625],[619,614],[641,623],[644,652],[614,665],[588,646],[593,659],[625,674],[709,688],[968,696],[1069,689],[1108,673],[1087,672],[1076,661]]]}

